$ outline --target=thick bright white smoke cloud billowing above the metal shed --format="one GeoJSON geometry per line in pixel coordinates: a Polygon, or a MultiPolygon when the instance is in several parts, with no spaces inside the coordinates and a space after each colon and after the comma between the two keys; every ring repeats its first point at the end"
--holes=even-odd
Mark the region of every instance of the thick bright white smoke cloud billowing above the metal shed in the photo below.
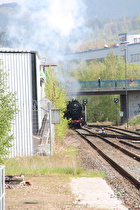
{"type": "Polygon", "coordinates": [[[85,34],[86,7],[81,0],[21,0],[9,25],[10,47],[60,58],[85,34]]]}

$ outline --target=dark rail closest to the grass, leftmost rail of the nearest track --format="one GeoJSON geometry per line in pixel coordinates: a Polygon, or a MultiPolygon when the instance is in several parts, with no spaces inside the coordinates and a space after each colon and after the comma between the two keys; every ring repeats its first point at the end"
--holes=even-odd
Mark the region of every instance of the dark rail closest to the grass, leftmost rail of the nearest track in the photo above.
{"type": "Polygon", "coordinates": [[[140,189],[140,182],[135,179],[131,174],[125,171],[121,166],[115,163],[110,157],[103,153],[98,147],[96,147],[89,139],[87,139],[83,134],[75,130],[82,138],[84,138],[87,143],[94,148],[116,171],[118,171],[122,176],[128,179],[131,183],[135,185],[137,189],[140,189]]]}

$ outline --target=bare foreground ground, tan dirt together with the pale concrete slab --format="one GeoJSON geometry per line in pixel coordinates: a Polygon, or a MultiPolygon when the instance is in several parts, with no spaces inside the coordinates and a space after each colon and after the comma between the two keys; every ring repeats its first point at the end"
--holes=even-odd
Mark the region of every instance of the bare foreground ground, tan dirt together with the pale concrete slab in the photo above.
{"type": "Polygon", "coordinates": [[[127,210],[100,177],[72,178],[71,182],[58,175],[29,178],[32,179],[31,185],[16,185],[12,189],[6,189],[6,210],[127,210]],[[99,195],[99,190],[102,196],[99,195]]]}

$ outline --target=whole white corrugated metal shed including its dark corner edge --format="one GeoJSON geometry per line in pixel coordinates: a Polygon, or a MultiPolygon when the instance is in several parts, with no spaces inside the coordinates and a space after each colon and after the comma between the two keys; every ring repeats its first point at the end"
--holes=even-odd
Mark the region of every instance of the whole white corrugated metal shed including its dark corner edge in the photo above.
{"type": "Polygon", "coordinates": [[[33,134],[41,125],[36,107],[40,100],[39,55],[35,51],[0,49],[0,60],[1,68],[9,73],[10,91],[16,92],[19,109],[13,125],[14,140],[9,157],[31,156],[33,134]]]}

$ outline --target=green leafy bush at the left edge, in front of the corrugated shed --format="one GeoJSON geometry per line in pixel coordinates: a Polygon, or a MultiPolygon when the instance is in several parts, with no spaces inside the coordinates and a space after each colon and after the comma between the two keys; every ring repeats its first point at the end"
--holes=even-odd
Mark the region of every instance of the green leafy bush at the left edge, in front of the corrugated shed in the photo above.
{"type": "Polygon", "coordinates": [[[6,84],[7,74],[0,69],[0,162],[12,146],[11,128],[17,111],[15,94],[8,91],[6,84]]]}

